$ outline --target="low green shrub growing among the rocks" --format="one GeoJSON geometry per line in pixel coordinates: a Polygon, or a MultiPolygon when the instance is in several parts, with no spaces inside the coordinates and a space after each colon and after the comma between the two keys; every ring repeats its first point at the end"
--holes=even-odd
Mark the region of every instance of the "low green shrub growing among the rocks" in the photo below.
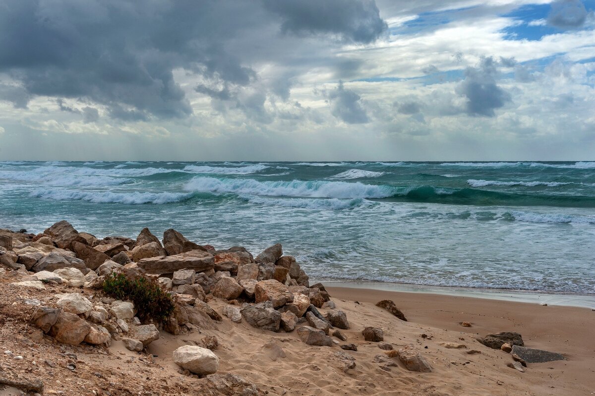
{"type": "Polygon", "coordinates": [[[174,312],[173,298],[152,278],[112,272],[105,277],[104,292],[118,300],[132,301],[143,323],[151,319],[162,323],[174,312]]]}

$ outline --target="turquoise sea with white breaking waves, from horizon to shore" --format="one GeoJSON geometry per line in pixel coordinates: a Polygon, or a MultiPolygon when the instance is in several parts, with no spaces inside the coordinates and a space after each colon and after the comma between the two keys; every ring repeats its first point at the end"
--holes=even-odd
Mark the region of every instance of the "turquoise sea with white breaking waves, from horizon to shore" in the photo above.
{"type": "Polygon", "coordinates": [[[0,162],[0,227],[280,242],[311,278],[595,293],[595,162],[0,162]]]}

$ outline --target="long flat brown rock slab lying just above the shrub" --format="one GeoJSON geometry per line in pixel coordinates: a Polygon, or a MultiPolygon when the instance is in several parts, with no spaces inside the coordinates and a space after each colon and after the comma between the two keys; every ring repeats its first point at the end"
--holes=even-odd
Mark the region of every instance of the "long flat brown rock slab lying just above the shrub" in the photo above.
{"type": "Polygon", "coordinates": [[[211,253],[190,250],[190,252],[173,256],[149,257],[140,260],[137,264],[147,274],[161,275],[172,274],[178,269],[193,269],[196,272],[207,271],[214,268],[215,260],[211,253]]]}

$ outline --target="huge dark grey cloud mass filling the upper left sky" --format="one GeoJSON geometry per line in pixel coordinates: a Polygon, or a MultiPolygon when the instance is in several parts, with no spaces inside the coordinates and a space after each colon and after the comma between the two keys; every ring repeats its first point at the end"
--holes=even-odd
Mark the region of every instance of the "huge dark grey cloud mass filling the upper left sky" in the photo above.
{"type": "MultiPolygon", "coordinates": [[[[24,108],[33,96],[45,95],[95,102],[123,120],[184,118],[193,110],[174,80],[176,69],[203,81],[197,92],[227,100],[234,87],[258,80],[246,63],[253,49],[267,47],[267,33],[278,32],[280,24],[288,33],[363,43],[386,26],[369,0],[262,4],[6,0],[0,4],[0,73],[19,85],[5,86],[0,99],[24,108]],[[312,14],[314,21],[303,20],[312,14]],[[259,41],[237,51],[234,45],[245,37],[259,41]]],[[[281,55],[269,56],[275,62],[281,55]]],[[[277,87],[288,98],[288,88],[277,87]]],[[[243,106],[258,108],[259,102],[260,97],[243,106]]],[[[93,120],[92,113],[86,120],[93,120]]]]}

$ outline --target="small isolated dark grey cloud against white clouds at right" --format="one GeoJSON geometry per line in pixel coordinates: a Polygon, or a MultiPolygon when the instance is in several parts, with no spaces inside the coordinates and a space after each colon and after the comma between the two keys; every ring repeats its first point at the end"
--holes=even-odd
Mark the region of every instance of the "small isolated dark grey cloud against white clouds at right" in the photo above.
{"type": "Polygon", "coordinates": [[[499,65],[490,56],[481,58],[477,67],[466,68],[465,80],[456,87],[456,93],[467,98],[467,114],[494,117],[494,110],[511,100],[510,95],[496,84],[499,65]]]}

